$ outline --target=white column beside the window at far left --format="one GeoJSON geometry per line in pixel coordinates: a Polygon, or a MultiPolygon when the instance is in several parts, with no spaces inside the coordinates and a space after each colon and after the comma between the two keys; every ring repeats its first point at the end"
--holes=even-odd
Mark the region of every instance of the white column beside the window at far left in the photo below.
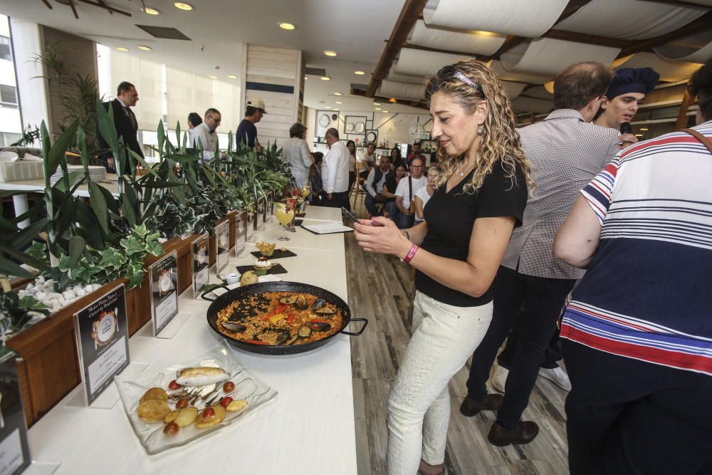
{"type": "Polygon", "coordinates": [[[10,32],[22,127],[39,127],[44,120],[48,129],[51,129],[46,80],[37,78],[45,75],[45,71],[41,63],[34,61],[35,55],[43,52],[41,26],[31,21],[11,18],[10,32]]]}

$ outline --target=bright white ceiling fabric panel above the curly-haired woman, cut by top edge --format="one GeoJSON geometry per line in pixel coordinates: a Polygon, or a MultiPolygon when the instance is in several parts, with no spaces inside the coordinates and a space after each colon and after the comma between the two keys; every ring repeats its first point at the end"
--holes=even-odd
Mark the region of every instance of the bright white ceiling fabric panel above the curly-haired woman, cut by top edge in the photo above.
{"type": "Polygon", "coordinates": [[[551,28],[568,0],[430,0],[425,23],[535,38],[551,28]]]}

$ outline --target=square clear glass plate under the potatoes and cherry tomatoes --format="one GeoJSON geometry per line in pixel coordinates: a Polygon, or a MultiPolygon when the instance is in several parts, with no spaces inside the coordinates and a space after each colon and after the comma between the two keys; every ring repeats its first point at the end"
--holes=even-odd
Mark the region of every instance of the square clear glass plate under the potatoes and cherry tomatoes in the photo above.
{"type": "MultiPolygon", "coordinates": [[[[169,367],[159,372],[146,372],[133,377],[116,376],[115,381],[121,397],[121,402],[129,418],[131,426],[139,438],[141,444],[149,454],[158,454],[161,451],[172,447],[180,447],[194,439],[203,437],[216,430],[221,429],[229,424],[232,424],[236,419],[244,417],[249,412],[252,412],[257,407],[271,400],[277,395],[277,391],[268,385],[258,380],[251,375],[248,370],[235,357],[235,350],[231,349],[230,345],[222,340],[206,353],[199,355],[193,360],[182,362],[179,365],[169,367]],[[152,387],[162,387],[167,390],[168,394],[175,391],[168,390],[169,382],[176,379],[177,371],[185,367],[212,366],[221,367],[229,373],[230,379],[235,383],[235,390],[229,395],[233,400],[245,400],[247,406],[237,412],[227,412],[225,419],[219,424],[208,429],[197,429],[194,424],[188,427],[181,427],[177,434],[164,434],[163,422],[145,422],[140,419],[137,414],[137,408],[141,397],[147,390],[152,387]]],[[[209,396],[211,398],[224,395],[222,385],[224,382],[217,384],[216,392],[209,396]]],[[[205,401],[198,401],[195,406],[198,409],[204,407],[205,401]]],[[[168,400],[168,405],[171,409],[175,409],[175,401],[168,400]]]]}

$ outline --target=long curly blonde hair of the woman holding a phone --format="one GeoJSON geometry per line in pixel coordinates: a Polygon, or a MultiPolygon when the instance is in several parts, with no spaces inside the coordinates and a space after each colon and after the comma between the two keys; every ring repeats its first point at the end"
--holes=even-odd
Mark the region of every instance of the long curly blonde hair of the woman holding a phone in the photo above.
{"type": "MultiPolygon", "coordinates": [[[[428,78],[426,82],[426,100],[430,102],[434,93],[444,93],[459,103],[468,113],[474,113],[483,100],[486,101],[489,109],[483,124],[484,134],[479,145],[478,164],[471,181],[465,184],[463,191],[476,192],[482,186],[485,177],[491,174],[493,167],[498,164],[513,183],[516,180],[516,169],[520,167],[529,189],[533,191],[535,183],[531,177],[532,165],[522,152],[511,103],[501,80],[481,61],[461,60],[452,66],[481,89],[473,88],[455,75],[446,75],[446,77],[435,75],[428,78]]],[[[474,121],[473,127],[478,127],[474,121]]],[[[438,147],[437,157],[441,164],[441,174],[438,179],[438,186],[440,186],[455,172],[462,157],[450,157],[443,147],[438,147]]]]}

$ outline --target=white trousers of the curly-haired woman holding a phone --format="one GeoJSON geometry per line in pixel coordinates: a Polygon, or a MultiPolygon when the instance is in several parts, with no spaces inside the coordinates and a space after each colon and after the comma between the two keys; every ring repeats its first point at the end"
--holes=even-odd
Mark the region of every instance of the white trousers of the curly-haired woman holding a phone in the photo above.
{"type": "Polygon", "coordinates": [[[413,335],[388,395],[388,474],[414,475],[445,460],[448,383],[480,344],[492,303],[455,307],[417,292],[413,335]]]}

